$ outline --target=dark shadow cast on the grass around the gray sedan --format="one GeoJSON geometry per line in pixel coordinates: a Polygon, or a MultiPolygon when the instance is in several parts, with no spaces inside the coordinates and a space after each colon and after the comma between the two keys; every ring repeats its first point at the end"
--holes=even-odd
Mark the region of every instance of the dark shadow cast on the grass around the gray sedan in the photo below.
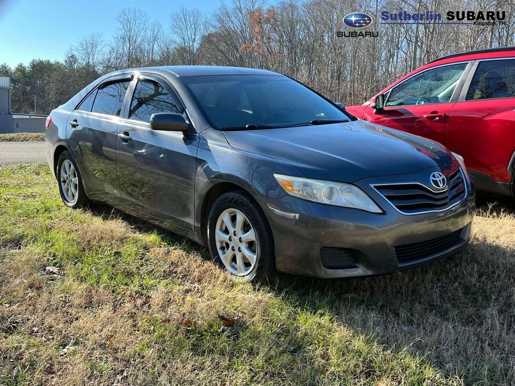
{"type": "MultiPolygon", "coordinates": [[[[509,202],[492,205],[487,197],[479,203],[481,210],[512,213],[509,202]]],[[[199,244],[108,205],[89,209],[105,220],[121,219],[138,232],[157,232],[167,244],[211,259],[199,244]]],[[[466,250],[415,270],[353,279],[278,273],[267,280],[265,290],[308,313],[329,314],[355,335],[423,358],[467,384],[509,384],[515,368],[513,254],[511,248],[474,237],[466,250]]]]}

